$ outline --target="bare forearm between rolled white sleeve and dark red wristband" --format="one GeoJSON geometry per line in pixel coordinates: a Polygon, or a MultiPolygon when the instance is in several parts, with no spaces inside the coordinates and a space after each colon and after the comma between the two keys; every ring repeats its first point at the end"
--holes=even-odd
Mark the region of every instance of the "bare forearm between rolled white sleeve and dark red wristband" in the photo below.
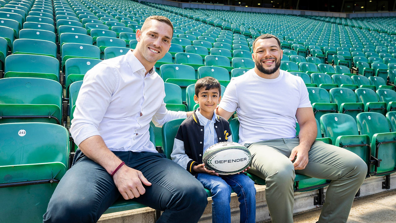
{"type": "Polygon", "coordinates": [[[87,138],[82,141],[78,147],[89,159],[99,163],[99,165],[105,168],[109,174],[111,174],[122,162],[120,158],[107,148],[105,141],[103,141],[103,138],[99,135],[87,138]]]}

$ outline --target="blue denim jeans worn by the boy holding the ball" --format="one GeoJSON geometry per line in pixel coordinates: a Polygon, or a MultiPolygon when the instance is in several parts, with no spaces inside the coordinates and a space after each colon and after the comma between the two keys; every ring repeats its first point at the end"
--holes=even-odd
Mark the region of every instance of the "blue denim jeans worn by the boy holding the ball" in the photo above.
{"type": "Polygon", "coordinates": [[[212,193],[212,222],[231,222],[231,189],[240,202],[240,222],[256,222],[256,188],[254,182],[243,173],[234,175],[210,175],[198,173],[198,181],[212,193]]]}

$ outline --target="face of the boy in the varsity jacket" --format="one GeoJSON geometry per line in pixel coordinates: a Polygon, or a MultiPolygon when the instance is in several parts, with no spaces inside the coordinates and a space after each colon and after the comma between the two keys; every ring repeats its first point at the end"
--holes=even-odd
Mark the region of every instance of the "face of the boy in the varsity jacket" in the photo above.
{"type": "Polygon", "coordinates": [[[201,112],[213,112],[217,104],[219,104],[220,99],[221,96],[217,88],[212,88],[210,90],[201,88],[198,95],[194,95],[194,102],[199,104],[201,112]]]}

